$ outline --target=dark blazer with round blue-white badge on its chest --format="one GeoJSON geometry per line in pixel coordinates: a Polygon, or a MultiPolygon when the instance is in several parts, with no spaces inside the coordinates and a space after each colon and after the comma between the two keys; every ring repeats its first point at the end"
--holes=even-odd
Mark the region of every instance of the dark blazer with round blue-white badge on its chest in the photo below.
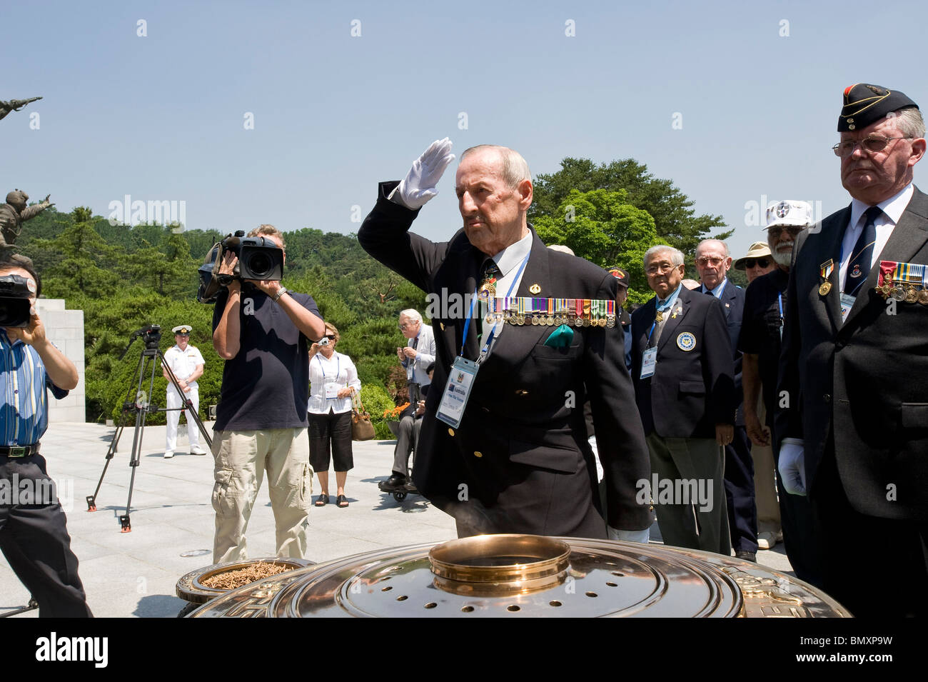
{"type": "Polygon", "coordinates": [[[665,313],[670,316],[657,343],[654,374],[641,379],[656,302],[654,297],[632,313],[632,380],[644,431],[664,438],[715,439],[715,424],[734,424],[737,406],[722,303],[683,287],[665,313]],[[677,313],[678,308],[682,310],[677,313]],[[696,341],[690,351],[680,347],[680,336],[687,333],[696,341]]]}

